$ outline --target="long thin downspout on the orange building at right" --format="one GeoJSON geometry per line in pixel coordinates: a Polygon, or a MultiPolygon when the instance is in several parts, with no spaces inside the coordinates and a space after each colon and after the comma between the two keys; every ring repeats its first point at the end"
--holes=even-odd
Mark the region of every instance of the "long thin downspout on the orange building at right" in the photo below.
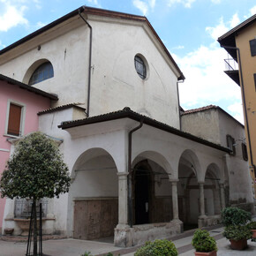
{"type": "Polygon", "coordinates": [[[237,47],[232,47],[232,46],[226,46],[226,45],[221,45],[222,48],[227,48],[227,49],[236,49],[237,50],[237,56],[238,56],[238,64],[239,64],[239,72],[240,72],[240,78],[241,78],[241,88],[242,88],[242,97],[243,97],[243,102],[244,102],[244,112],[245,112],[245,124],[247,126],[247,134],[248,134],[248,142],[249,142],[249,148],[250,148],[250,158],[251,158],[251,168],[254,170],[254,176],[256,175],[256,168],[253,163],[253,157],[252,157],[252,144],[251,144],[251,136],[250,136],[250,129],[249,129],[249,122],[248,122],[248,116],[247,116],[247,107],[246,107],[246,102],[245,102],[245,87],[244,87],[244,79],[243,79],[243,72],[242,72],[242,62],[241,62],[241,56],[240,56],[240,49],[237,47]]]}

